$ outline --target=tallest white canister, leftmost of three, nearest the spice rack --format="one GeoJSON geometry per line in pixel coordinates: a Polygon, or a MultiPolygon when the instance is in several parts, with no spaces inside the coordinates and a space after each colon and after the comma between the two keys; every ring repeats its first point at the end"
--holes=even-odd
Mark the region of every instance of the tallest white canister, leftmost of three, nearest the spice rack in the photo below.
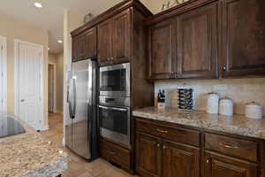
{"type": "Polygon", "coordinates": [[[207,112],[218,114],[219,111],[219,96],[216,93],[208,93],[207,112]]]}

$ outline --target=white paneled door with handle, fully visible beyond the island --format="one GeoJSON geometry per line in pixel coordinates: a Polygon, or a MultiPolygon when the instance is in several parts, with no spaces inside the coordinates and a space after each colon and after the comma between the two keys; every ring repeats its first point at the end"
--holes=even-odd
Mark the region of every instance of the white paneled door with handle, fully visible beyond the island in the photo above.
{"type": "MultiPolygon", "coordinates": [[[[40,129],[42,108],[42,47],[19,42],[17,45],[19,118],[40,129]]],[[[15,83],[16,84],[16,83],[15,83]]]]}

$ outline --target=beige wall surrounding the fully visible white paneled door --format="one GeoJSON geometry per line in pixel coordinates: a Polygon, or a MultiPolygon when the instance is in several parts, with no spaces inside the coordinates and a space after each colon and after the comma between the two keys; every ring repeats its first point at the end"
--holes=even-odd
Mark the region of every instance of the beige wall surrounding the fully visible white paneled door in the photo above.
{"type": "Polygon", "coordinates": [[[45,92],[45,124],[47,124],[48,112],[48,31],[32,27],[27,23],[16,21],[0,14],[0,35],[7,37],[7,79],[8,79],[8,112],[14,113],[14,40],[33,42],[44,46],[44,92],[45,92]]]}

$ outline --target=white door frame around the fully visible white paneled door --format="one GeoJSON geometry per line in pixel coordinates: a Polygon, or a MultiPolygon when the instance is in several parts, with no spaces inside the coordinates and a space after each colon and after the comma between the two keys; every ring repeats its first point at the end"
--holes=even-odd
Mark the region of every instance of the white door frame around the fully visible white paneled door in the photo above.
{"type": "Polygon", "coordinates": [[[21,41],[21,40],[14,40],[14,44],[15,44],[15,55],[14,55],[14,107],[15,107],[15,115],[18,116],[19,115],[19,44],[23,43],[23,44],[27,44],[27,45],[32,45],[34,47],[40,48],[42,50],[41,52],[41,73],[40,73],[40,80],[41,80],[41,89],[40,89],[40,98],[42,100],[41,103],[41,115],[40,119],[42,124],[40,124],[39,128],[40,130],[45,129],[45,116],[44,116],[44,105],[45,105],[45,99],[44,99],[44,47],[43,45],[40,44],[36,44],[36,43],[32,43],[32,42],[25,42],[25,41],[21,41]]]}

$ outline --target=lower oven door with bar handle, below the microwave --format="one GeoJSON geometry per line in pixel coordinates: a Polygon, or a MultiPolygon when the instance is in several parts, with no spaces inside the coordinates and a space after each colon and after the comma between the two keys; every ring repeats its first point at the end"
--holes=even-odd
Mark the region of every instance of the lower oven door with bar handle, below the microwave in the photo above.
{"type": "Polygon", "coordinates": [[[130,143],[130,108],[110,107],[99,105],[100,134],[110,139],[131,147],[130,143]]]}

